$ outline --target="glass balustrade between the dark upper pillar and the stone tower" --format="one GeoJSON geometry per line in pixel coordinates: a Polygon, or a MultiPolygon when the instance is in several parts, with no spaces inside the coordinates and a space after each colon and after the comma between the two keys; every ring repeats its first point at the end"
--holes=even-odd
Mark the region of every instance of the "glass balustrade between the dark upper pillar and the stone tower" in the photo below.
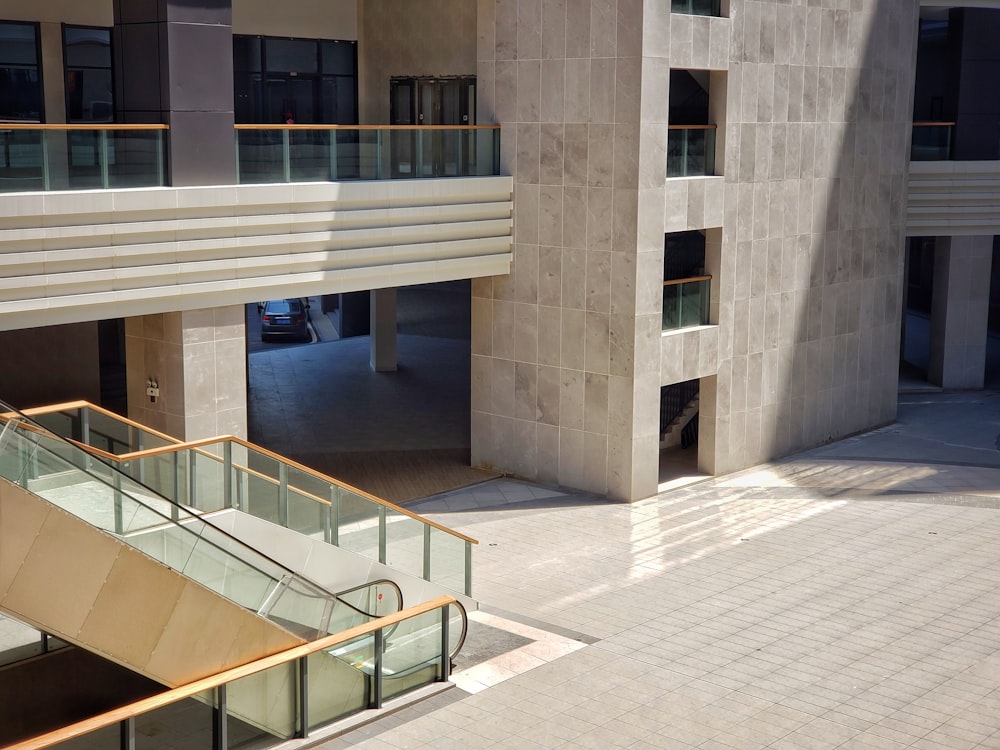
{"type": "Polygon", "coordinates": [[[246,183],[482,177],[500,174],[499,126],[236,126],[246,183]]]}

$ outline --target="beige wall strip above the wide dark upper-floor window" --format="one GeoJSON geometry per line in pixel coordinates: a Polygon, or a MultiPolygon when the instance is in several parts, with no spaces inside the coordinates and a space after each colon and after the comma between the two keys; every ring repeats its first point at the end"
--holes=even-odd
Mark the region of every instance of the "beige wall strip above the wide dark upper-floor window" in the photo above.
{"type": "Polygon", "coordinates": [[[359,0],[233,0],[233,33],[358,38],[359,0]]]}

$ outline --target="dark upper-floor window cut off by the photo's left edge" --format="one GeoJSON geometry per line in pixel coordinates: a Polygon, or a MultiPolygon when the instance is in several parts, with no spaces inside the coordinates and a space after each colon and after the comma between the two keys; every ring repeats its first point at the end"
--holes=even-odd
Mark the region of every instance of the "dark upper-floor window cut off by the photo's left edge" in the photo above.
{"type": "Polygon", "coordinates": [[[38,25],[0,21],[0,120],[41,122],[38,25]]]}

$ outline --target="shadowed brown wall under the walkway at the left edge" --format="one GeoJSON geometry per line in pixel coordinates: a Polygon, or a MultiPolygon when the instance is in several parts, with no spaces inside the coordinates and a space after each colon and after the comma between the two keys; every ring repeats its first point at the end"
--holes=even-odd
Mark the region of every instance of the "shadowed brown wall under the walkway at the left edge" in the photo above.
{"type": "Polygon", "coordinates": [[[101,402],[97,323],[0,332],[0,401],[28,408],[101,402]]]}

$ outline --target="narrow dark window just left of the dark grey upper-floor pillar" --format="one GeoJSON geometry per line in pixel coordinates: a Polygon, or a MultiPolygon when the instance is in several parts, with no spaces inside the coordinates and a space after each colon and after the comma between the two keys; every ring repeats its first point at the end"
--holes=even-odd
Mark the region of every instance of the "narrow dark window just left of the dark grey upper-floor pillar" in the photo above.
{"type": "Polygon", "coordinates": [[[111,29],[63,26],[66,121],[111,122],[111,29]]]}

